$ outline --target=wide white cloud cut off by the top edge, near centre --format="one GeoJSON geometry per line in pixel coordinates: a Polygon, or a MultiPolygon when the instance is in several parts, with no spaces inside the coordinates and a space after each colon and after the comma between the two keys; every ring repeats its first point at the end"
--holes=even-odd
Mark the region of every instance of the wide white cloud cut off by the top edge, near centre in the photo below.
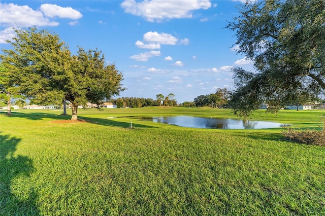
{"type": "Polygon", "coordinates": [[[151,0],[136,2],[126,0],[121,3],[125,13],[142,16],[150,22],[161,21],[164,19],[192,18],[192,11],[209,9],[210,0],[192,1],[161,1],[151,0]]]}

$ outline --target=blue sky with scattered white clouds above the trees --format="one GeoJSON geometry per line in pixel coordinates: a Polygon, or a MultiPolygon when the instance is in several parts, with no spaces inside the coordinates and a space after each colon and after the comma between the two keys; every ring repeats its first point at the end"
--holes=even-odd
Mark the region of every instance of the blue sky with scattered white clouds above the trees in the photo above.
{"type": "Polygon", "coordinates": [[[233,88],[230,68],[252,69],[236,55],[235,33],[225,28],[243,1],[1,1],[0,46],[11,27],[37,26],[59,34],[73,54],[77,46],[102,50],[123,73],[117,97],[175,94],[193,101],[217,88],[233,88]]]}

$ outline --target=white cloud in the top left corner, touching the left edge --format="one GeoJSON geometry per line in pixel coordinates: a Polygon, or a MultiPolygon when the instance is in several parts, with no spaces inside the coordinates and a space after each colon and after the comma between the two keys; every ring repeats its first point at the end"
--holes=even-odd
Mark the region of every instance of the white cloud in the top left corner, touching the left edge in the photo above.
{"type": "Polygon", "coordinates": [[[50,21],[41,11],[35,11],[27,5],[18,6],[13,3],[0,4],[0,23],[5,26],[58,26],[58,22],[50,21]]]}

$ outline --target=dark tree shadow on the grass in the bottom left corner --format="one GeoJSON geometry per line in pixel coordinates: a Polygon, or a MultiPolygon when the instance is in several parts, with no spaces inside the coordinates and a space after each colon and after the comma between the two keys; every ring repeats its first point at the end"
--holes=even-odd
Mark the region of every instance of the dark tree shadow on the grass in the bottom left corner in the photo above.
{"type": "Polygon", "coordinates": [[[32,160],[15,156],[20,138],[0,134],[0,215],[40,215],[36,205],[37,193],[13,193],[12,184],[17,177],[28,178],[34,171],[32,160]]]}

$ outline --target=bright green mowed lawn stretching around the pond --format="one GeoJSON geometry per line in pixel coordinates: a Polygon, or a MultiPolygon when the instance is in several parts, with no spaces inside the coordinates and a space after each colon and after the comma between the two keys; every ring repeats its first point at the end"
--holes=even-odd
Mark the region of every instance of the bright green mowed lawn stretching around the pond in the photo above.
{"type": "MultiPolygon", "coordinates": [[[[282,141],[283,129],[183,128],[135,118],[236,118],[217,109],[78,110],[88,121],[81,123],[62,123],[70,116],[61,112],[0,115],[0,215],[325,214],[325,148],[282,141]]],[[[252,118],[317,129],[324,115],[252,118]]]]}

